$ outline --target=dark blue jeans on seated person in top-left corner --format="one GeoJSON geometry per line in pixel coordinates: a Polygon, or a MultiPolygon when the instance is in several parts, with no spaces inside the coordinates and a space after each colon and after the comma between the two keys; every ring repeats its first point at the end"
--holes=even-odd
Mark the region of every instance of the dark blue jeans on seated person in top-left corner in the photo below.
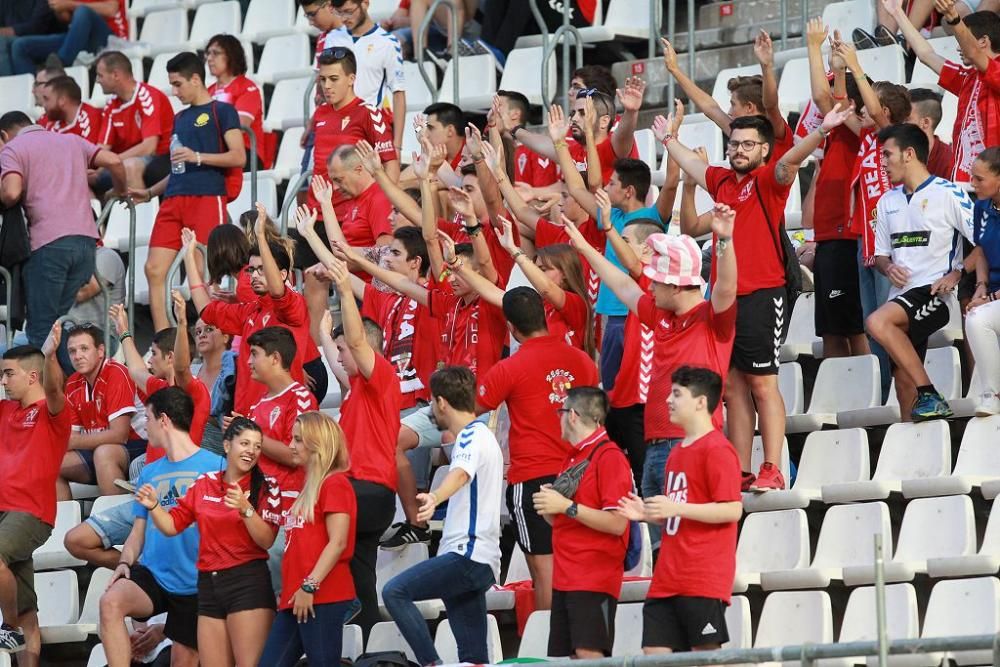
{"type": "Polygon", "coordinates": [[[50,53],[56,53],[69,67],[81,51],[97,54],[108,43],[111,28],[104,18],[88,7],[73,10],[66,32],[56,35],[26,35],[18,37],[10,48],[14,74],[34,74],[38,63],[50,53]]]}

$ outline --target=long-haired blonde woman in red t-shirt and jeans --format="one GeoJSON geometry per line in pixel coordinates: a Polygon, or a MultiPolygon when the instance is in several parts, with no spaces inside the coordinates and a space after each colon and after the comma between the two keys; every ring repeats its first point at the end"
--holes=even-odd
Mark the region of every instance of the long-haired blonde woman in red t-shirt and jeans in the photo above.
{"type": "Polygon", "coordinates": [[[344,474],[344,433],[320,412],[299,415],[291,448],[304,462],[306,481],[285,520],[278,615],[260,664],[291,667],[305,653],[313,667],[340,665],[344,617],[354,600],[357,502],[344,474]]]}

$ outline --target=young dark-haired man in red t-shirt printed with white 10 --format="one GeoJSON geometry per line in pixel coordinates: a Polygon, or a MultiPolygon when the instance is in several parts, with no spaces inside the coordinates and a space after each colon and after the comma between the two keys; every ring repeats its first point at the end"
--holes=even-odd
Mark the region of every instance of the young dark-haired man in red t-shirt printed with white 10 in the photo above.
{"type": "Polygon", "coordinates": [[[619,501],[632,521],[662,526],[663,548],[642,608],[642,651],[708,651],[729,641],[726,607],[743,513],[736,450],[713,423],[722,378],[683,366],[671,376],[670,421],[684,430],[667,459],[663,494],[619,501]]]}

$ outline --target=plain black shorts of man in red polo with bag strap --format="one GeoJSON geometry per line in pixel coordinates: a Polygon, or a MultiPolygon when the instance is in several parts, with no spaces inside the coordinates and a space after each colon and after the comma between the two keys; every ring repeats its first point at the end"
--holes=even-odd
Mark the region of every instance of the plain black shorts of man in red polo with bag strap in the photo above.
{"type": "Polygon", "coordinates": [[[618,600],[593,591],[552,591],[549,655],[573,655],[576,649],[611,655],[618,600]]]}

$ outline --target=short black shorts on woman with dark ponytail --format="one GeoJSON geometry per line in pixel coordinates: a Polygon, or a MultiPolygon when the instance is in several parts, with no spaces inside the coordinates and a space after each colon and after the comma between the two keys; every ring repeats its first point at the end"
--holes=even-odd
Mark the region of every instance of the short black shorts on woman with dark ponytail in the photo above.
{"type": "Polygon", "coordinates": [[[267,559],[252,560],[228,570],[198,572],[199,616],[225,618],[248,609],[276,608],[267,559]]]}

